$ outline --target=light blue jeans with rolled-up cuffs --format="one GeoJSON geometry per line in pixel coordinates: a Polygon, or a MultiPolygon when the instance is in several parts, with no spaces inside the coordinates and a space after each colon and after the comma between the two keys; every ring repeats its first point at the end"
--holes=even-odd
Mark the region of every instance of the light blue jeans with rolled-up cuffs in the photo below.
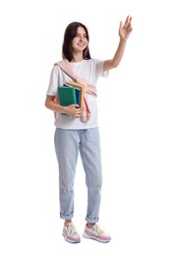
{"type": "Polygon", "coordinates": [[[85,221],[97,223],[101,201],[101,153],[98,128],[66,130],[56,128],[55,151],[59,165],[60,218],[74,217],[74,182],[79,153],[85,169],[87,209],[85,221]]]}

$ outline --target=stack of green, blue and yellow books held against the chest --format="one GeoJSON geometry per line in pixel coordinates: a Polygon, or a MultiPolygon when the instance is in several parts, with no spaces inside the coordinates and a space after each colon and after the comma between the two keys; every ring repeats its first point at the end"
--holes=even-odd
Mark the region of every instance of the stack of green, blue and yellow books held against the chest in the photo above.
{"type": "Polygon", "coordinates": [[[59,102],[63,106],[70,104],[84,105],[85,87],[73,81],[58,88],[59,102]]]}

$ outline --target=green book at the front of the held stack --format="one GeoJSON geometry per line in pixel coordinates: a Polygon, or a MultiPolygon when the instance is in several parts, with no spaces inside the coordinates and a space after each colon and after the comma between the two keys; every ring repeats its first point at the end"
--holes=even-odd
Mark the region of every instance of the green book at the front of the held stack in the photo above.
{"type": "Polygon", "coordinates": [[[59,103],[63,106],[77,104],[76,90],[74,87],[58,88],[59,103]]]}

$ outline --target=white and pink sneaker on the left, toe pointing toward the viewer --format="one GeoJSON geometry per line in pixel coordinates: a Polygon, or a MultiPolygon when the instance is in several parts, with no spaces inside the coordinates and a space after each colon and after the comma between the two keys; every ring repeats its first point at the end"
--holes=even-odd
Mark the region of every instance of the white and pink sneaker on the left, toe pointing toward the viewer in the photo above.
{"type": "Polygon", "coordinates": [[[64,224],[62,234],[68,242],[78,243],[81,241],[81,237],[73,223],[64,224]]]}

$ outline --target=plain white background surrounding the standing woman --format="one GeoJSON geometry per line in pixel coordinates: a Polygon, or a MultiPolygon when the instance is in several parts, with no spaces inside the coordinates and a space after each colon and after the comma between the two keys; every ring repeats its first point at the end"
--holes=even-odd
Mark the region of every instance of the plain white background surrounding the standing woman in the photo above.
{"type": "MultiPolygon", "coordinates": [[[[0,254],[171,255],[170,1],[16,0],[0,4],[0,254]],[[93,5],[92,5],[93,4],[93,5]],[[88,28],[92,57],[113,57],[119,22],[133,17],[120,66],[98,81],[108,244],[64,241],[53,113],[44,100],[63,33],[88,28]]],[[[85,226],[79,160],[74,223],[85,226]]]]}

